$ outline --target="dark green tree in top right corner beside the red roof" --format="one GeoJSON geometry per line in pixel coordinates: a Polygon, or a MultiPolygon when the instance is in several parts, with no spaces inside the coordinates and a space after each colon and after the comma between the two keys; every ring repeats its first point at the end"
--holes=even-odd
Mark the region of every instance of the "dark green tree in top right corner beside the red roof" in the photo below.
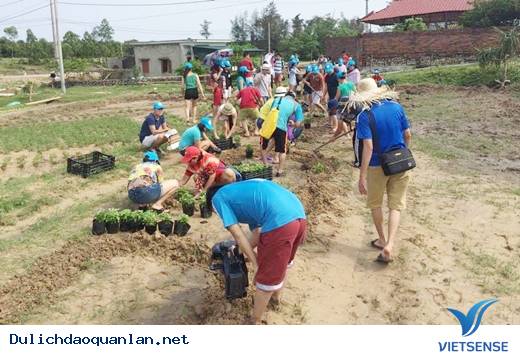
{"type": "Polygon", "coordinates": [[[459,23],[464,27],[507,26],[520,18],[520,0],[476,0],[459,23]]]}

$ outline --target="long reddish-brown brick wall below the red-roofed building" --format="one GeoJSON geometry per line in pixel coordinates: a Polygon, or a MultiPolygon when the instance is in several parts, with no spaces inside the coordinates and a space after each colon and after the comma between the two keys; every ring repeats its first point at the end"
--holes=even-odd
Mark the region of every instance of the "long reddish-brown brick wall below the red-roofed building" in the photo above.
{"type": "Polygon", "coordinates": [[[491,47],[497,42],[498,34],[493,29],[457,29],[327,38],[325,48],[332,58],[346,49],[362,66],[374,66],[471,60],[477,48],[491,47]]]}

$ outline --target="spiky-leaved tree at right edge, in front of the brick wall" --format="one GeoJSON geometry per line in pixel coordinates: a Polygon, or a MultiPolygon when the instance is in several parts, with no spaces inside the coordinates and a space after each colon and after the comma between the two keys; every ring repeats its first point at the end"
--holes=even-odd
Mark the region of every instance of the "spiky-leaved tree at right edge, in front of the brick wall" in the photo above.
{"type": "Polygon", "coordinates": [[[502,31],[497,27],[495,27],[495,30],[500,35],[499,46],[480,50],[477,59],[483,69],[494,67],[501,70],[502,77],[495,81],[500,84],[500,87],[504,87],[510,82],[508,80],[508,69],[511,60],[520,55],[520,25],[514,26],[509,31],[502,31]]]}

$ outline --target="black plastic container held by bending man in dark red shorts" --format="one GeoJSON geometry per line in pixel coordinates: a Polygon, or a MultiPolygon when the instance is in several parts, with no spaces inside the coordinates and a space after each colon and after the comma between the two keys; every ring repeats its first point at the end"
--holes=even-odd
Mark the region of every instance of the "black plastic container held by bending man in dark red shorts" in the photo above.
{"type": "Polygon", "coordinates": [[[221,270],[226,285],[226,298],[243,298],[247,295],[249,280],[244,255],[233,240],[219,242],[211,249],[211,270],[221,270]]]}

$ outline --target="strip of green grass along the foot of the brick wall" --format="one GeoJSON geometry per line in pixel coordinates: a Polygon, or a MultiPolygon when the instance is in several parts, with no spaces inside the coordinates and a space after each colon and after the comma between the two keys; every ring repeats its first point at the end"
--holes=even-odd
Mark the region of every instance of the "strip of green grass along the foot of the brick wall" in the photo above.
{"type": "MultiPolygon", "coordinates": [[[[493,85],[498,77],[500,74],[497,70],[481,70],[477,64],[436,66],[385,74],[385,79],[395,80],[397,84],[413,85],[493,85]]],[[[511,65],[509,79],[512,83],[520,83],[520,62],[511,65]]]]}

